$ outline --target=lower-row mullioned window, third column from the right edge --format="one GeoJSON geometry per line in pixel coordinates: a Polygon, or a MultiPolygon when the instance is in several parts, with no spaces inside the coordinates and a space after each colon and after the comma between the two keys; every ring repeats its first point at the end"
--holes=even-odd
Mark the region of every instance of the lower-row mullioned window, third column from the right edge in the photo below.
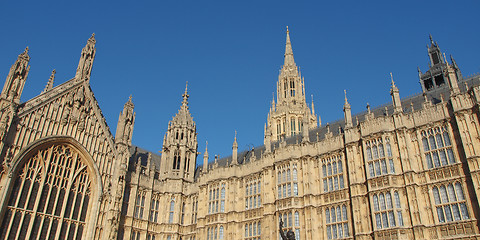
{"type": "Polygon", "coordinates": [[[327,208],[325,210],[325,222],[327,224],[328,239],[339,239],[349,236],[346,205],[327,208]]]}

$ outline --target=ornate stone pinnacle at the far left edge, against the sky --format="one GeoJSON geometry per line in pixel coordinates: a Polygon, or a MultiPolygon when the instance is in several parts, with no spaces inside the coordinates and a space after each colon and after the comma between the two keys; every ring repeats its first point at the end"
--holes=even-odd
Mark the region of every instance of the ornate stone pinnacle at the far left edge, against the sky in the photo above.
{"type": "Polygon", "coordinates": [[[10,68],[10,72],[5,80],[5,85],[1,93],[1,98],[9,102],[19,104],[25,81],[27,80],[28,71],[30,70],[30,56],[28,56],[28,47],[25,51],[18,55],[17,61],[10,68]]]}

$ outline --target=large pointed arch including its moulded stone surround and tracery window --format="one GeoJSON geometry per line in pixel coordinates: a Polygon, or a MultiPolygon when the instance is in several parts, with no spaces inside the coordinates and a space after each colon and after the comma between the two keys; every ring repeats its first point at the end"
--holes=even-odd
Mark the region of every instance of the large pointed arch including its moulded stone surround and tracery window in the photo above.
{"type": "Polygon", "coordinates": [[[22,149],[11,166],[0,196],[0,238],[93,238],[102,183],[80,143],[43,138],[22,149]]]}

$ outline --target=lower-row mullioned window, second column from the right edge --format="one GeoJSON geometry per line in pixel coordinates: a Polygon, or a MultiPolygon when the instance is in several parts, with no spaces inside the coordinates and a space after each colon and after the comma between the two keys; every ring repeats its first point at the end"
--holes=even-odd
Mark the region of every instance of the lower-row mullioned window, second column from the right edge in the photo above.
{"type": "Polygon", "coordinates": [[[373,195],[373,210],[377,229],[395,227],[397,224],[398,226],[403,226],[400,196],[397,191],[393,192],[393,196],[395,198],[395,206],[390,192],[373,195]]]}

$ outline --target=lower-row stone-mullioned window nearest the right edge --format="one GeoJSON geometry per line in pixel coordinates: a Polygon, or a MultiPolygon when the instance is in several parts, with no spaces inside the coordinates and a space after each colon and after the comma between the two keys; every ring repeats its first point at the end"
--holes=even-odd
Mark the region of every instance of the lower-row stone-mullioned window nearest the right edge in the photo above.
{"type": "Polygon", "coordinates": [[[459,221],[470,218],[462,185],[459,182],[455,184],[450,183],[447,186],[435,186],[432,191],[439,222],[459,221]]]}

